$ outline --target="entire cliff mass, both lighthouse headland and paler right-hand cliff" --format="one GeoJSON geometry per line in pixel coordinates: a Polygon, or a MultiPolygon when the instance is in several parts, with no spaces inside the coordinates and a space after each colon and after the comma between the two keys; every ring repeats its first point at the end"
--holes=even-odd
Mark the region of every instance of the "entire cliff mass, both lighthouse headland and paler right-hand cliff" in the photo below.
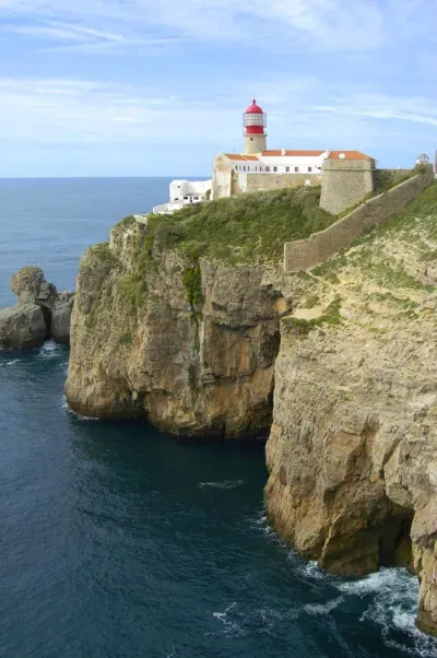
{"type": "Polygon", "coordinates": [[[437,634],[437,186],[283,274],[284,234],[335,219],[311,195],[115,226],[81,261],[68,401],[184,434],[270,430],[270,522],[333,573],[415,571],[418,624],[437,634]]]}

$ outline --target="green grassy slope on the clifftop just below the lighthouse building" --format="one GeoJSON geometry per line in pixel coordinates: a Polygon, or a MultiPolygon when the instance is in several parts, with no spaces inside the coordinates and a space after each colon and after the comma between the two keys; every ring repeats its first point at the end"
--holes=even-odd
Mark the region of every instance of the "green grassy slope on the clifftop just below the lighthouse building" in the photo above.
{"type": "Polygon", "coordinates": [[[322,231],[336,218],[319,207],[320,187],[243,195],[149,215],[147,245],[227,262],[281,261],[284,243],[322,231]]]}

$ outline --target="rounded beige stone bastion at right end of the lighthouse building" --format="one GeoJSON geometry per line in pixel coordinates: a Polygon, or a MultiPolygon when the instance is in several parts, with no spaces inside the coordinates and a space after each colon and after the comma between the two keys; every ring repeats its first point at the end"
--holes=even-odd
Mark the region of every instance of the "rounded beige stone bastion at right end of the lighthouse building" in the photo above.
{"type": "Polygon", "coordinates": [[[323,163],[320,205],[339,214],[353,208],[375,189],[374,160],[335,160],[323,163]]]}

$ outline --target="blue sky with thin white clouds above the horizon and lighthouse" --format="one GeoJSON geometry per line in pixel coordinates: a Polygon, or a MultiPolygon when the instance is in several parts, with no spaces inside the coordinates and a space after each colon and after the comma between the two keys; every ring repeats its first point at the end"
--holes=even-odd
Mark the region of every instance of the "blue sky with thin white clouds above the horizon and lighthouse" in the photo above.
{"type": "Polygon", "coordinates": [[[209,176],[270,149],[437,148],[435,0],[0,0],[0,176],[209,176]]]}

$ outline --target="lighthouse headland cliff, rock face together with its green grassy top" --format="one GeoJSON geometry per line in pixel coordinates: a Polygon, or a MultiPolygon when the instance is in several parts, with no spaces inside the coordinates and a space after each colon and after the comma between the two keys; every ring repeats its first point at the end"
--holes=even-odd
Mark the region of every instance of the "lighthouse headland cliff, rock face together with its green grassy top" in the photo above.
{"type": "Polygon", "coordinates": [[[70,407],[147,414],[175,433],[267,436],[277,312],[287,303],[277,270],[261,262],[281,261],[293,220],[299,231],[305,215],[307,232],[331,221],[318,197],[283,190],[115,226],[109,244],[90,248],[80,265],[70,407]]]}

